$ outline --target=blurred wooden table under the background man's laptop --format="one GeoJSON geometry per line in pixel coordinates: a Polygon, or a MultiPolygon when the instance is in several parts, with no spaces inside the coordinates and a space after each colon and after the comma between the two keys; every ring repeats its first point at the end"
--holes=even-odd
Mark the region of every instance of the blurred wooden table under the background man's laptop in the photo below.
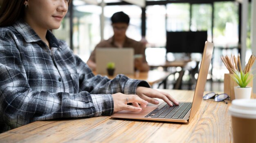
{"type": "MultiPolygon", "coordinates": [[[[97,75],[96,71],[93,71],[94,75],[97,75]]],[[[160,70],[150,70],[148,72],[135,72],[134,74],[126,74],[128,78],[146,80],[149,85],[153,85],[157,82],[166,80],[166,78],[171,74],[171,72],[160,71],[160,70]]],[[[101,74],[102,76],[107,76],[107,74],[101,74]]],[[[108,78],[115,78],[114,76],[108,76],[108,78]]]]}

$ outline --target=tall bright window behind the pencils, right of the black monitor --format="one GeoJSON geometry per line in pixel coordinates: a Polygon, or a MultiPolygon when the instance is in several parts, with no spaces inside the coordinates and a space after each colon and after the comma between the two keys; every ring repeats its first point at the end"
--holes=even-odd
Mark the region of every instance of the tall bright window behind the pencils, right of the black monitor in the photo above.
{"type": "Polygon", "coordinates": [[[219,58],[221,55],[238,54],[238,4],[215,2],[213,20],[213,80],[223,80],[227,68],[219,58]]]}

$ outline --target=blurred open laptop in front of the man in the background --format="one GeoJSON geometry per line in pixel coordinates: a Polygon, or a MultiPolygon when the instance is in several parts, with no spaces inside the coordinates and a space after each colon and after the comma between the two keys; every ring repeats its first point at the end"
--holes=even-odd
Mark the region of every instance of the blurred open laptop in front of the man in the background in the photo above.
{"type": "Polygon", "coordinates": [[[107,74],[107,63],[115,63],[115,74],[134,73],[133,48],[96,48],[96,72],[107,74]]]}

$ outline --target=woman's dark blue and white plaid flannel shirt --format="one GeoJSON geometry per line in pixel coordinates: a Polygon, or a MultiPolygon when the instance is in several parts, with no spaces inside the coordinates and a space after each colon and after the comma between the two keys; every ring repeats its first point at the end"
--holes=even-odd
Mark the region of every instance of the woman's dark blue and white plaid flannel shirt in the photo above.
{"type": "Polygon", "coordinates": [[[135,94],[141,80],[94,76],[48,30],[51,50],[23,20],[0,28],[0,132],[33,121],[111,115],[113,93],[135,94]]]}

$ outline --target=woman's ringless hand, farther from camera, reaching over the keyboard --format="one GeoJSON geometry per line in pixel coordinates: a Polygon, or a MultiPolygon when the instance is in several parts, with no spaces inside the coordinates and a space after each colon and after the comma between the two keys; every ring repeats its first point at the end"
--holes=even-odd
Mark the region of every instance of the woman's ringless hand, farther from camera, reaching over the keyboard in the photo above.
{"type": "Polygon", "coordinates": [[[157,91],[155,89],[147,87],[137,87],[136,93],[140,98],[152,104],[159,104],[159,101],[155,100],[154,98],[160,98],[170,106],[173,106],[172,103],[174,103],[175,105],[179,105],[179,103],[170,94],[162,91],[157,91]]]}

